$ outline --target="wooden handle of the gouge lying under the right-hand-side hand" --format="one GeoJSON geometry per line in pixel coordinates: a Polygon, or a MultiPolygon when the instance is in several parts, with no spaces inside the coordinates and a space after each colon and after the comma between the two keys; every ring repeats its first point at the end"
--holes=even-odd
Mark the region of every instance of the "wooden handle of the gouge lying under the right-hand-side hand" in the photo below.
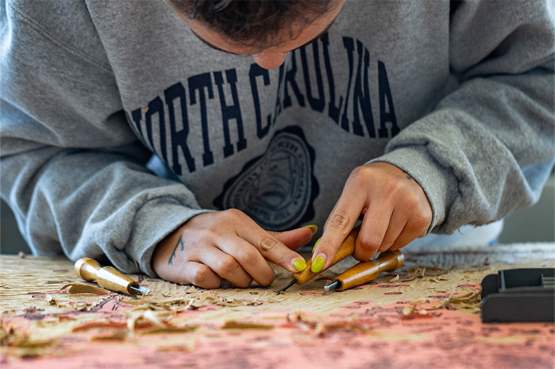
{"type": "Polygon", "coordinates": [[[339,280],[341,282],[341,287],[339,287],[337,291],[364,285],[364,283],[375,280],[382,271],[394,271],[402,267],[403,262],[404,256],[401,251],[384,251],[379,254],[376,260],[359,262],[355,267],[337,276],[334,280],[339,280]]]}

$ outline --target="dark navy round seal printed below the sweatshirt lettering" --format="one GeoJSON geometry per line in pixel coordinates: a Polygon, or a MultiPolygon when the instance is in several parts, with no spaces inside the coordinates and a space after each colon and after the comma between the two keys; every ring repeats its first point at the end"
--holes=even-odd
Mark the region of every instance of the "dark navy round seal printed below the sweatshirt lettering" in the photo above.
{"type": "Polygon", "coordinates": [[[262,228],[282,231],[314,217],[318,195],[313,175],[314,150],[299,127],[275,133],[268,150],[249,161],[241,173],[225,183],[214,205],[237,208],[262,228]]]}

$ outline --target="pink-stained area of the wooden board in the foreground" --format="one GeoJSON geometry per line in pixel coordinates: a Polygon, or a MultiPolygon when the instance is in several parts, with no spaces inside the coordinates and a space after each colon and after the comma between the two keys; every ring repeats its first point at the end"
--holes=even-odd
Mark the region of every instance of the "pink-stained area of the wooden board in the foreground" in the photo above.
{"type": "MultiPolygon", "coordinates": [[[[381,289],[386,285],[367,288],[381,289]]],[[[393,290],[393,289],[392,289],[393,290]]],[[[389,293],[389,292],[386,292],[389,293]]],[[[314,291],[303,294],[321,296],[314,291]]],[[[441,300],[448,294],[438,294],[441,300]]],[[[52,356],[36,359],[3,357],[2,368],[553,368],[552,323],[482,324],[466,310],[436,309],[405,316],[408,300],[378,305],[359,300],[333,314],[302,313],[288,319],[287,310],[253,311],[245,321],[272,325],[268,330],[222,330],[223,320],[209,320],[196,332],[136,336],[133,341],[90,341],[99,330],[64,336],[52,356]],[[256,313],[256,314],[255,314],[256,313]],[[317,327],[320,323],[320,328],[317,327]],[[60,353],[62,353],[61,356],[60,353]]],[[[419,305],[419,309],[434,303],[419,305]]],[[[129,309],[108,298],[90,312],[124,324],[129,309]]],[[[184,326],[190,318],[227,307],[208,306],[173,318],[184,326]]],[[[47,318],[40,311],[4,319],[20,323],[47,318]]],[[[107,328],[103,329],[106,333],[107,328]]],[[[109,330],[108,330],[109,332],[109,330]]],[[[140,332],[140,328],[138,330],[140,332]]]]}

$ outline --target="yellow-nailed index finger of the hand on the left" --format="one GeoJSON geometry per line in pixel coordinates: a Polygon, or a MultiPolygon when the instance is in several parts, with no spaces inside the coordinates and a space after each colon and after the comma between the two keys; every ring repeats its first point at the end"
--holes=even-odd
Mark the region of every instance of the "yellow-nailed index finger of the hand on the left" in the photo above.
{"type": "Polygon", "coordinates": [[[269,260],[291,273],[302,271],[306,268],[305,258],[285,246],[278,238],[260,227],[252,227],[246,231],[245,228],[237,231],[239,237],[243,238],[262,254],[264,259],[269,260]]]}

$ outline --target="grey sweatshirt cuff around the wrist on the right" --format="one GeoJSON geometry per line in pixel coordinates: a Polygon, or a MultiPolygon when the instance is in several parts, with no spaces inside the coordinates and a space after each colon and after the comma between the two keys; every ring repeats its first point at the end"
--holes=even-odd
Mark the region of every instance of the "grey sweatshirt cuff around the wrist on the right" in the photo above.
{"type": "Polygon", "coordinates": [[[432,206],[432,223],[427,233],[436,231],[445,221],[447,208],[452,204],[450,194],[457,194],[458,181],[450,168],[440,165],[425,146],[398,147],[368,163],[385,162],[395,165],[411,176],[424,190],[432,206]]]}

